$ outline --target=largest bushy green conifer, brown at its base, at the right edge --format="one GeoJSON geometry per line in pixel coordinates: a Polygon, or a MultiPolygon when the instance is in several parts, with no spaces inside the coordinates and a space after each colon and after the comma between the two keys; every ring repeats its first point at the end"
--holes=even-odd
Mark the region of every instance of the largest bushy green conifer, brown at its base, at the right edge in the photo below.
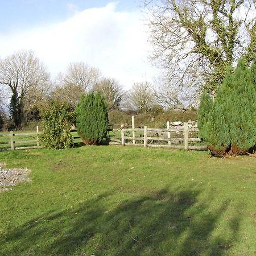
{"type": "Polygon", "coordinates": [[[200,137],[214,155],[245,154],[256,143],[256,66],[243,59],[230,68],[216,99],[204,93],[199,108],[200,137]]]}

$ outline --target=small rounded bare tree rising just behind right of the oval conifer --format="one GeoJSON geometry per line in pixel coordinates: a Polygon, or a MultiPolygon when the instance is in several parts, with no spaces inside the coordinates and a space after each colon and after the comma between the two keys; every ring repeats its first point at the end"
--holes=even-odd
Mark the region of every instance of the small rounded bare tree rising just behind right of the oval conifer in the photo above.
{"type": "Polygon", "coordinates": [[[94,91],[101,92],[108,104],[108,110],[119,109],[123,100],[123,90],[114,79],[103,79],[93,86],[94,91]]]}

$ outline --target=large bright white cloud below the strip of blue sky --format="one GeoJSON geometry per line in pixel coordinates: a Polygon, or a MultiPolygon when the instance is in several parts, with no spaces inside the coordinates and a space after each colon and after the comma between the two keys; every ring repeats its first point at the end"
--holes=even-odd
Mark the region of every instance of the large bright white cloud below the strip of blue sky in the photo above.
{"type": "Polygon", "coordinates": [[[0,56],[32,49],[56,75],[70,62],[84,61],[126,87],[151,80],[156,70],[147,56],[147,26],[139,11],[117,11],[110,3],[102,8],[76,10],[63,22],[13,34],[0,34],[0,56]]]}

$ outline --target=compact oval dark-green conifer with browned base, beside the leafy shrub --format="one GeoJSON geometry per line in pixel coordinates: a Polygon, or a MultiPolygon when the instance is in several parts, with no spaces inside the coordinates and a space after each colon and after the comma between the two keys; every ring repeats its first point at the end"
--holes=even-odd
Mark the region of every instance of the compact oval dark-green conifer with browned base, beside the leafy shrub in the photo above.
{"type": "Polygon", "coordinates": [[[108,105],[101,93],[82,95],[76,108],[76,127],[85,144],[98,144],[106,137],[108,105]]]}

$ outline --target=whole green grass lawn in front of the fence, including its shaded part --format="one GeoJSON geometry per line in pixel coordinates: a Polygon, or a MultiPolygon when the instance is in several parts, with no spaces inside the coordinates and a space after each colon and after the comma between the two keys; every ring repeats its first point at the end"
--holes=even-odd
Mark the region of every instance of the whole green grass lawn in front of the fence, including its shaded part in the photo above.
{"type": "Polygon", "coordinates": [[[0,255],[255,255],[256,158],[84,146],[0,152],[0,255]]]}

